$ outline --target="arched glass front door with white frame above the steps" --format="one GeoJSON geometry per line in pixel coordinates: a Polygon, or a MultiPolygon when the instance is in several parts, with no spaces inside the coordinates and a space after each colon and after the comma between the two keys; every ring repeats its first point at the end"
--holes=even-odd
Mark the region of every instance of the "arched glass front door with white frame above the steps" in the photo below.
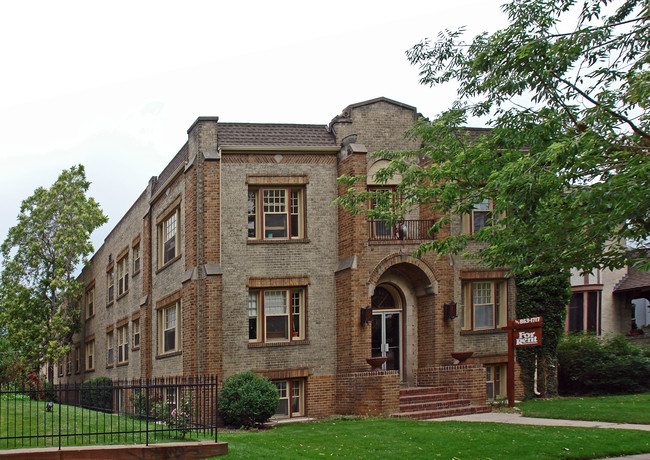
{"type": "Polygon", "coordinates": [[[372,296],[372,356],[384,356],[385,370],[402,370],[402,295],[391,284],[381,284],[372,296]]]}

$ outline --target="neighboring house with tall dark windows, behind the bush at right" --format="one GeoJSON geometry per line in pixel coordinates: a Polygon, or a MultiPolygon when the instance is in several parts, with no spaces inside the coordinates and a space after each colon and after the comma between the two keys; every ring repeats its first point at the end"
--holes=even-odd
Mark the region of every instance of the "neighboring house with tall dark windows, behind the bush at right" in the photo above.
{"type": "Polygon", "coordinates": [[[567,307],[567,331],[597,335],[629,334],[650,319],[650,272],[633,268],[594,270],[571,274],[571,301],[567,307]]]}

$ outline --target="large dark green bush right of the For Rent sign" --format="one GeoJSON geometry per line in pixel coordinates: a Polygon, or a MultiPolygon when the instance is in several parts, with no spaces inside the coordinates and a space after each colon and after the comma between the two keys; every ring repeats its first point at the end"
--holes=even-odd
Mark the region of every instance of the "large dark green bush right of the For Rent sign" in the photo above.
{"type": "Polygon", "coordinates": [[[621,335],[567,335],[558,347],[563,394],[639,393],[650,389],[650,350],[621,335]]]}

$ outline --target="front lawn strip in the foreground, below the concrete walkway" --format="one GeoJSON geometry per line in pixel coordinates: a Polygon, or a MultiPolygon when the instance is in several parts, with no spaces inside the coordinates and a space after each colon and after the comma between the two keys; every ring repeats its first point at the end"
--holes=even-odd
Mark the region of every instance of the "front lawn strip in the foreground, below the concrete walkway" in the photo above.
{"type": "Polygon", "coordinates": [[[261,432],[227,432],[224,459],[597,458],[650,452],[634,430],[477,422],[370,419],[291,423],[261,432]]]}

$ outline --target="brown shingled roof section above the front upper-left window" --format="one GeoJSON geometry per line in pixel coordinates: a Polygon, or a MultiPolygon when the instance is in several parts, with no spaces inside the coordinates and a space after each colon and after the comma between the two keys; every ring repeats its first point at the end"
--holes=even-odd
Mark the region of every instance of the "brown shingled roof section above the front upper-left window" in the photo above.
{"type": "Polygon", "coordinates": [[[336,147],[326,125],[279,123],[219,123],[220,146],[336,147]]]}

